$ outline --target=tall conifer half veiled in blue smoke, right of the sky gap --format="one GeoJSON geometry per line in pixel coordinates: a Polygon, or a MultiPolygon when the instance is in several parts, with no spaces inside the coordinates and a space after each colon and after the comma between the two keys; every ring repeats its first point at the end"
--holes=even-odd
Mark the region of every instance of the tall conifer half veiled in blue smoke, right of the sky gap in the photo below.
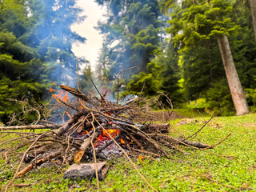
{"type": "MultiPolygon", "coordinates": [[[[108,22],[101,23],[99,27],[102,33],[106,34],[103,60],[106,70],[109,70],[107,73],[109,80],[114,80],[122,70],[137,66],[136,69],[128,70],[123,74],[126,81],[129,82],[133,74],[138,76],[133,76],[131,84],[139,81],[137,84],[141,85],[141,79],[149,81],[154,74],[149,74],[151,66],[148,64],[157,53],[160,40],[158,1],[98,0],[97,2],[109,8],[108,22]]],[[[127,86],[128,89],[129,87],[134,86],[127,86]]],[[[138,91],[139,88],[130,91],[135,90],[138,91]]]]}

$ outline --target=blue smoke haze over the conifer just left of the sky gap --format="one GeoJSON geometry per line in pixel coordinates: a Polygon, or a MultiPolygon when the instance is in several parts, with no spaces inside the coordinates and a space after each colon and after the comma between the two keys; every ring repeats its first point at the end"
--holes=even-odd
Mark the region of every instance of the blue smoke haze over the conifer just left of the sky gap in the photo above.
{"type": "Polygon", "coordinates": [[[74,42],[86,41],[70,29],[74,22],[82,22],[82,10],[75,0],[43,0],[38,1],[31,11],[39,19],[34,27],[34,35],[30,42],[38,43],[38,52],[45,62],[44,74],[57,85],[77,85],[76,58],[72,52],[74,42]]]}

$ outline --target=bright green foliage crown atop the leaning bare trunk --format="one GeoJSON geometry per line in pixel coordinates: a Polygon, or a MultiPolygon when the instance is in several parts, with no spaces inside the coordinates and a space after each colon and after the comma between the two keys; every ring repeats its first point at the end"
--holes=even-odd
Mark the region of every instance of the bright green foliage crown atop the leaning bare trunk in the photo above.
{"type": "Polygon", "coordinates": [[[182,1],[171,14],[167,32],[173,35],[175,46],[182,45],[186,50],[189,46],[197,46],[201,40],[230,35],[238,30],[238,25],[231,21],[233,7],[230,1],[182,1]]]}

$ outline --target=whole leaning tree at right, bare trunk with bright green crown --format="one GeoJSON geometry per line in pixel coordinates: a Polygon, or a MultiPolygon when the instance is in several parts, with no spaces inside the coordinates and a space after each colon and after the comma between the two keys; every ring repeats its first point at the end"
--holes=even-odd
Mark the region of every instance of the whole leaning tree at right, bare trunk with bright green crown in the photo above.
{"type": "Polygon", "coordinates": [[[202,40],[217,38],[237,114],[248,113],[248,106],[227,38],[232,31],[238,30],[238,26],[234,25],[230,19],[232,13],[230,2],[182,1],[180,5],[176,6],[177,10],[172,14],[172,20],[170,20],[172,26],[168,30],[174,37],[175,45],[181,46],[182,50],[186,51],[190,47],[196,47],[202,40]]]}

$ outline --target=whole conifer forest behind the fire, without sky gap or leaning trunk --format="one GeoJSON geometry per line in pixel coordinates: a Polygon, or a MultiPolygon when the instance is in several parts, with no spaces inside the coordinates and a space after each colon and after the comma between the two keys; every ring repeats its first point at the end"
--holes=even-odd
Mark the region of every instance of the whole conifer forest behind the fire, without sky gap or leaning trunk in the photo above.
{"type": "MultiPolygon", "coordinates": [[[[50,90],[58,90],[59,84],[76,87],[77,63],[86,93],[94,94],[92,78],[102,91],[110,90],[109,99],[114,100],[118,90],[122,97],[149,98],[162,91],[174,108],[236,114],[220,50],[223,37],[246,103],[256,111],[255,0],[95,2],[107,7],[108,19],[98,23],[104,43],[92,72],[90,63],[75,58],[71,50],[72,43],[86,42],[70,30],[74,22],[86,19],[76,1],[0,1],[0,122],[22,111],[16,100],[47,105],[50,90]],[[81,71],[81,66],[86,67],[81,71]],[[118,74],[133,66],[118,84],[118,74]]],[[[26,120],[33,119],[32,113],[26,120]]]]}

